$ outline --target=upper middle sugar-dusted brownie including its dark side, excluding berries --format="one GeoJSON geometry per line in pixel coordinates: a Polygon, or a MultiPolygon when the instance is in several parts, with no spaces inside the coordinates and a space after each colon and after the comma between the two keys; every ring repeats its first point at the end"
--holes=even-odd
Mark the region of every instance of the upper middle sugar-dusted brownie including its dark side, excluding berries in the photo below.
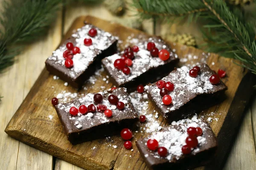
{"type": "Polygon", "coordinates": [[[131,73],[128,75],[114,67],[115,60],[120,59],[124,51],[102,59],[102,65],[116,87],[125,87],[131,91],[140,84],[154,82],[169,74],[179,61],[177,54],[174,54],[160,37],[140,38],[134,45],[138,46],[139,51],[133,52],[134,59],[129,67],[131,73]],[[159,51],[166,49],[170,54],[169,59],[163,61],[159,57],[152,57],[150,51],[147,50],[148,42],[154,42],[159,51]]]}

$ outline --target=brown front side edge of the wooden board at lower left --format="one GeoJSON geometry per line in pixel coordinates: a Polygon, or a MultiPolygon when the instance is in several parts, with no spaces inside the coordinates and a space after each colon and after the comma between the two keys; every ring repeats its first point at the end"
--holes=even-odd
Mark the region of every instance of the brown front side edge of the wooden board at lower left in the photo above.
{"type": "Polygon", "coordinates": [[[99,162],[95,162],[89,158],[84,159],[84,156],[80,156],[73,152],[63,150],[60,147],[56,147],[54,144],[46,143],[46,142],[42,141],[41,139],[38,139],[38,138],[35,138],[34,136],[29,135],[24,130],[19,130],[19,129],[16,129],[15,127],[8,127],[5,129],[5,132],[9,136],[19,140],[20,142],[28,144],[29,146],[32,146],[38,150],[41,150],[45,153],[48,153],[52,156],[59,158],[59,159],[67,161],[67,162],[74,164],[78,167],[82,167],[86,170],[109,170],[109,169],[111,169],[111,167],[106,167],[105,165],[100,164],[99,162]]]}

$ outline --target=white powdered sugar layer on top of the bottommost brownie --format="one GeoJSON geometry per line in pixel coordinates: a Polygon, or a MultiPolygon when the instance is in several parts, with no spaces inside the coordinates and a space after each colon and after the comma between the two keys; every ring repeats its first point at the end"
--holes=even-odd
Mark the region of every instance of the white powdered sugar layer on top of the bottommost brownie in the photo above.
{"type": "MultiPolygon", "coordinates": [[[[186,130],[188,127],[201,127],[203,132],[209,128],[208,125],[205,122],[202,122],[201,119],[197,119],[197,121],[194,121],[197,119],[197,116],[194,116],[194,119],[182,119],[180,121],[177,121],[175,123],[172,123],[171,126],[166,127],[165,130],[157,132],[148,138],[146,138],[146,141],[148,139],[156,139],[159,143],[159,146],[166,147],[168,150],[168,155],[166,156],[166,159],[171,161],[174,157],[175,159],[179,159],[180,156],[183,155],[181,151],[181,147],[186,144],[185,140],[188,136],[186,130]]],[[[202,146],[203,144],[206,144],[206,136],[204,136],[204,133],[202,136],[198,136],[198,146],[202,146]]],[[[145,143],[146,144],[146,143],[145,143]]],[[[194,148],[192,150],[192,154],[195,154],[199,152],[198,147],[194,148]]],[[[151,151],[150,153],[155,158],[161,159],[161,157],[158,155],[157,152],[151,151]]],[[[148,157],[145,155],[145,157],[148,157]]]]}

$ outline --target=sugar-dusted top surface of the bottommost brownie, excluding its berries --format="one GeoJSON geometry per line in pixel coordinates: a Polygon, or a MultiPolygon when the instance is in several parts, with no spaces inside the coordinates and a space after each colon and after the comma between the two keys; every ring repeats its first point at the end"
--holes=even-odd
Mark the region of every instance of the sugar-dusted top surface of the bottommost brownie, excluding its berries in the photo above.
{"type": "Polygon", "coordinates": [[[177,122],[172,122],[169,127],[166,127],[163,131],[157,132],[146,138],[137,141],[137,144],[143,150],[144,157],[148,159],[151,164],[161,162],[175,162],[182,159],[185,155],[182,153],[181,148],[186,144],[187,129],[189,127],[201,127],[203,130],[202,136],[198,136],[198,146],[192,149],[191,154],[195,155],[204,150],[208,150],[217,146],[216,138],[212,132],[209,124],[197,119],[195,115],[192,119],[182,119],[177,122]],[[160,157],[157,151],[151,151],[147,148],[148,139],[156,139],[159,147],[166,147],[168,150],[165,158],[160,157]]]}

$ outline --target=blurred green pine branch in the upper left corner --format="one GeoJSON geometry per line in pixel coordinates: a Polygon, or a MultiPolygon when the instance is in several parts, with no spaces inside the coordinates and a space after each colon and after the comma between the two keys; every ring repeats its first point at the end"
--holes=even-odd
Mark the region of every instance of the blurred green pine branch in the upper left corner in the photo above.
{"type": "MultiPolygon", "coordinates": [[[[102,0],[79,0],[99,3],[102,0]]],[[[62,6],[71,0],[2,0],[0,10],[0,73],[15,61],[24,45],[46,35],[62,6]]]]}

